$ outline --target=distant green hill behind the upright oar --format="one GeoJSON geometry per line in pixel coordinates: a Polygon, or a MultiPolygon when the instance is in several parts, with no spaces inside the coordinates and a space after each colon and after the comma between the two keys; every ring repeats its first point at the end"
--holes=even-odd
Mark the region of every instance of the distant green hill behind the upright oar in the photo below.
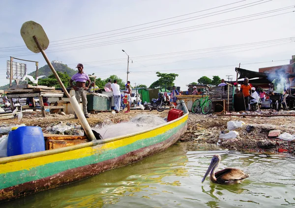
{"type": "MultiPolygon", "coordinates": [[[[78,72],[78,70],[71,69],[66,64],[52,63],[52,65],[53,65],[54,69],[56,69],[56,71],[59,71],[62,73],[66,72],[70,77],[72,77],[75,73],[78,72]]],[[[40,69],[38,69],[38,76],[46,75],[46,77],[44,77],[44,78],[48,78],[48,76],[50,76],[52,74],[53,73],[48,65],[45,65],[45,66],[41,67],[40,69]]],[[[36,71],[29,73],[29,75],[35,77],[36,71]]],[[[21,81],[20,81],[20,84],[21,84],[21,81]]],[[[12,85],[16,85],[16,83],[13,81],[12,85]]],[[[9,89],[9,84],[6,84],[4,86],[0,86],[0,90],[7,90],[7,89],[9,89]]]]}

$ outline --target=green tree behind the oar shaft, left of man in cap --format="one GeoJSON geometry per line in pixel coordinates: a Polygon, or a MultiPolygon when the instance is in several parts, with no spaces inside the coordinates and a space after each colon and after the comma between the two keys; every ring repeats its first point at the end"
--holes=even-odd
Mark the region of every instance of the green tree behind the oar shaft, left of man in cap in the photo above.
{"type": "MultiPolygon", "coordinates": [[[[57,73],[58,73],[59,78],[60,78],[61,82],[63,83],[63,85],[65,87],[69,87],[71,77],[67,74],[67,72],[57,71],[57,73]]],[[[39,85],[45,85],[45,86],[48,86],[48,87],[53,87],[53,86],[56,87],[56,88],[61,87],[59,85],[59,82],[56,79],[54,74],[51,74],[50,76],[48,76],[48,78],[39,79],[38,84],[39,85]]]]}

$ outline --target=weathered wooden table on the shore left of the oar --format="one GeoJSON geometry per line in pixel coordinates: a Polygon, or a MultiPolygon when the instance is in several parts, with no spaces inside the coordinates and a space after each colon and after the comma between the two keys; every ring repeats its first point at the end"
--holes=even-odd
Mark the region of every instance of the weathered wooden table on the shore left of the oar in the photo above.
{"type": "MultiPolygon", "coordinates": [[[[64,106],[44,106],[43,97],[58,97],[59,101],[62,101],[63,92],[61,90],[48,90],[48,89],[9,89],[7,91],[7,98],[9,99],[11,110],[15,109],[15,106],[12,102],[13,98],[30,98],[32,107],[27,109],[40,109],[36,107],[34,97],[39,98],[39,103],[42,111],[42,115],[45,117],[45,109],[60,109],[63,111],[64,106]]],[[[26,109],[24,107],[23,109],[26,109]]]]}

